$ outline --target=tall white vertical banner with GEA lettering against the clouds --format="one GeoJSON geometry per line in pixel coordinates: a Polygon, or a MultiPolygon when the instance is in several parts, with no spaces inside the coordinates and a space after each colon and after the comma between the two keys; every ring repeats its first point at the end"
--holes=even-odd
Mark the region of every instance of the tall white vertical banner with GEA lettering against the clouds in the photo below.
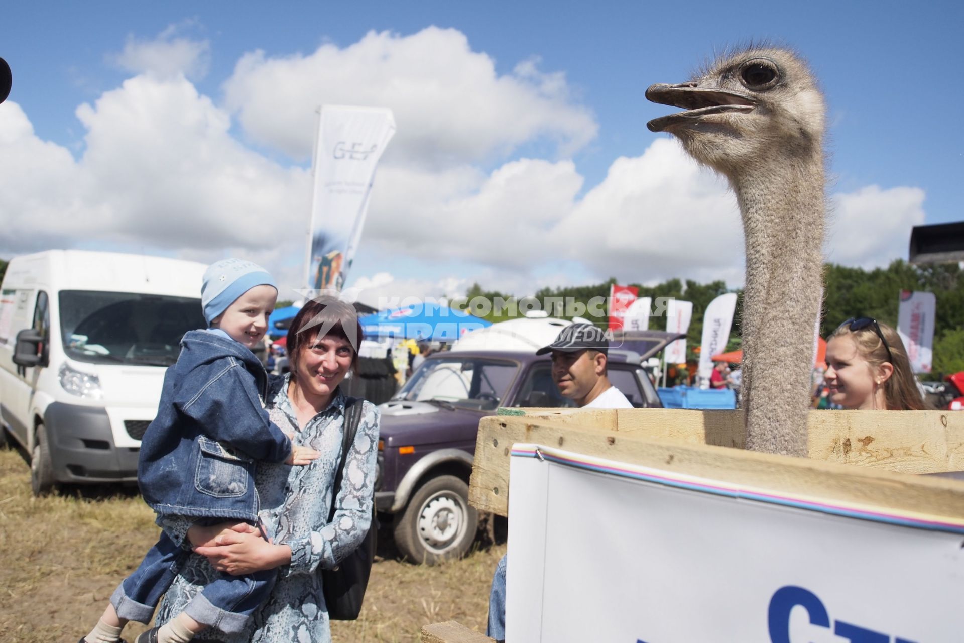
{"type": "Polygon", "coordinates": [[[362,236],[375,168],[395,133],[391,110],[325,105],[314,151],[308,288],[344,285],[362,236]]]}

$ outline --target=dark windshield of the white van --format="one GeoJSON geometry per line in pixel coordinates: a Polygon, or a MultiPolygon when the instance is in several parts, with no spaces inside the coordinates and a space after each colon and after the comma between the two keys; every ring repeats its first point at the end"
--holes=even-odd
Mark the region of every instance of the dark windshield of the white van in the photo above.
{"type": "Polygon", "coordinates": [[[59,301],[64,351],[79,362],[170,366],[181,337],[207,326],[192,297],[62,290],[59,301]]]}

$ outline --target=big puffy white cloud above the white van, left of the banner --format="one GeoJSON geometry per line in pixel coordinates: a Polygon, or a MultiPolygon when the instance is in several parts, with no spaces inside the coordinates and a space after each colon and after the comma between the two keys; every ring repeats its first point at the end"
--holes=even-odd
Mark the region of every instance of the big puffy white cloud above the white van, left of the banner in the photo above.
{"type": "Polygon", "coordinates": [[[243,147],[183,76],[141,75],[77,109],[86,147],[40,140],[0,109],[0,252],[85,240],[161,250],[272,247],[308,212],[310,180],[243,147]]]}

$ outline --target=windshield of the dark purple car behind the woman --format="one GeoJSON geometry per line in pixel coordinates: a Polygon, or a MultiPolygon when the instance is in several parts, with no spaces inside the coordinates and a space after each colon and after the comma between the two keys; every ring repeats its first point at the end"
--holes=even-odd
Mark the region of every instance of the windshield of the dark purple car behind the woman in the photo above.
{"type": "Polygon", "coordinates": [[[516,362],[457,357],[427,360],[394,399],[492,411],[505,398],[518,371],[516,362]]]}

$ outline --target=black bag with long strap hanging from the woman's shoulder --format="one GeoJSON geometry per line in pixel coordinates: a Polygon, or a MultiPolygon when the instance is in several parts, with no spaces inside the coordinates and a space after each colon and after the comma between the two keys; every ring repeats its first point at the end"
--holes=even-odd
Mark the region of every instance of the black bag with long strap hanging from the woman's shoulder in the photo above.
{"type": "MultiPolygon", "coordinates": [[[[341,478],[345,472],[348,450],[355,442],[359,424],[362,421],[363,400],[349,397],[345,402],[344,437],[341,442],[341,464],[335,473],[335,486],[332,489],[332,511],[328,522],[335,520],[335,506],[338,492],[341,491],[341,478]]],[[[372,445],[374,448],[374,445],[372,445]]],[[[375,539],[378,524],[375,522],[375,506],[372,504],[371,526],[362,544],[338,562],[335,569],[321,569],[321,589],[328,605],[328,618],[333,621],[354,621],[362,611],[364,590],[371,575],[371,564],[375,559],[375,539]]]]}

